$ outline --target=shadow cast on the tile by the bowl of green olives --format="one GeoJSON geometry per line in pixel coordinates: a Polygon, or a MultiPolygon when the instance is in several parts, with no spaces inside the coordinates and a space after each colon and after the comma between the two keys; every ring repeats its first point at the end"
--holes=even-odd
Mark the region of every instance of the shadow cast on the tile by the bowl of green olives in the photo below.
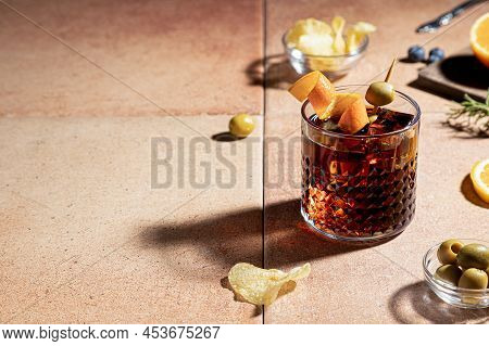
{"type": "Polygon", "coordinates": [[[423,281],[406,285],[389,299],[389,310],[400,323],[487,323],[489,309],[467,310],[438,298],[423,281]]]}

